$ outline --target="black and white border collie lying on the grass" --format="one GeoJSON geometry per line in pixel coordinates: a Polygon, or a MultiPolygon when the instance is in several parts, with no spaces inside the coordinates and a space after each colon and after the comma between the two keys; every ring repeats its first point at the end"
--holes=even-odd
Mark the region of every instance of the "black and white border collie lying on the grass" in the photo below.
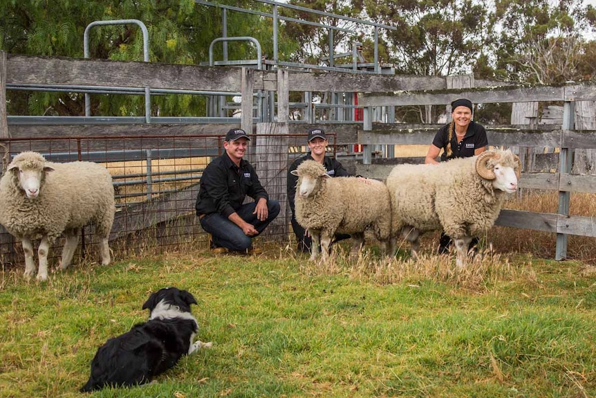
{"type": "Polygon", "coordinates": [[[191,304],[196,304],[192,294],[176,287],[152,293],[142,307],[149,309],[149,320],[97,349],[91,377],[81,392],[149,383],[173,368],[181,356],[211,347],[212,343],[193,343],[198,324],[190,312],[191,304]]]}

